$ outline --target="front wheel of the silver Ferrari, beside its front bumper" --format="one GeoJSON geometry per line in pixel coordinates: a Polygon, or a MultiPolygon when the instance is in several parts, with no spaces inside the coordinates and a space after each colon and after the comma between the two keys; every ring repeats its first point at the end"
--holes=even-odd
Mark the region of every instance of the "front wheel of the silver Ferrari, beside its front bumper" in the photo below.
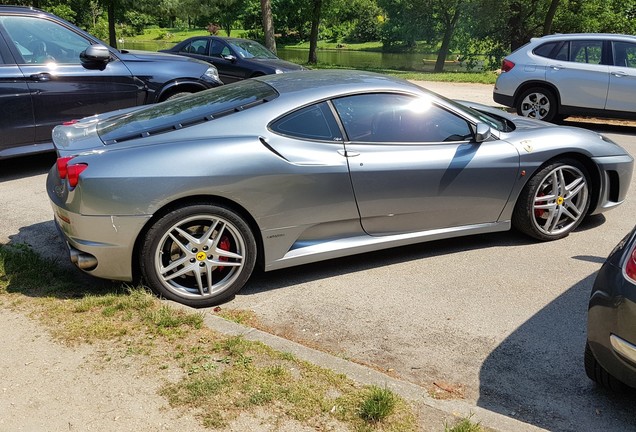
{"type": "Polygon", "coordinates": [[[587,170],[576,160],[563,159],[545,166],[521,191],[512,224],[542,241],[566,237],[587,213],[589,183],[587,170]]]}

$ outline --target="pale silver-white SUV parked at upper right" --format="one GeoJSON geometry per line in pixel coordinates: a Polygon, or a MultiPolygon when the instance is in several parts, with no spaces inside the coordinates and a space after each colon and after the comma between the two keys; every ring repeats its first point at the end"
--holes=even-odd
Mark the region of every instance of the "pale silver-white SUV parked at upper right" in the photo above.
{"type": "Polygon", "coordinates": [[[636,118],[636,36],[533,38],[503,60],[493,99],[545,121],[568,115],[636,118]]]}

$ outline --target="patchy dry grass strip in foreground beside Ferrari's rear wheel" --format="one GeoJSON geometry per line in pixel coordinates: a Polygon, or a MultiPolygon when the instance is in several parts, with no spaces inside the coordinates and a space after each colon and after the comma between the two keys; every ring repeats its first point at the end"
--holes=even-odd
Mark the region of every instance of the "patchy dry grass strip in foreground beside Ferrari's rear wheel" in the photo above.
{"type": "MultiPolygon", "coordinates": [[[[87,286],[79,273],[26,246],[0,245],[0,306],[38,319],[60,342],[93,344],[103,362],[134,361],[164,379],[160,395],[206,427],[264,410],[277,424],[325,430],[416,431],[411,405],[388,390],[203,325],[203,315],[166,306],[143,287],[87,286]],[[180,376],[176,381],[168,376],[180,376]]],[[[91,282],[92,283],[92,282],[91,282]]],[[[249,322],[250,314],[227,318],[249,322]]]]}

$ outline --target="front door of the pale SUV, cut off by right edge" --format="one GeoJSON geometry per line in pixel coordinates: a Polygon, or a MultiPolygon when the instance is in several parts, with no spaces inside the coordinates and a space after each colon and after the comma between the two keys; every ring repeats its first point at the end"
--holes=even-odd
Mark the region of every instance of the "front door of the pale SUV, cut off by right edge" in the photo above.
{"type": "Polygon", "coordinates": [[[605,109],[636,112],[636,44],[614,41],[612,54],[605,109]]]}

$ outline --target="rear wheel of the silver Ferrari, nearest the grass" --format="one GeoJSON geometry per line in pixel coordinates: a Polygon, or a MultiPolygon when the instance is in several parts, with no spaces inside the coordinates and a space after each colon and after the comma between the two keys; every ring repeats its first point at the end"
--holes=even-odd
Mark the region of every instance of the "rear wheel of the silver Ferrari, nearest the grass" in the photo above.
{"type": "Polygon", "coordinates": [[[194,204],[171,211],[148,230],[141,273],[157,294],[193,307],[230,299],[256,263],[256,242],[232,210],[194,204]]]}

